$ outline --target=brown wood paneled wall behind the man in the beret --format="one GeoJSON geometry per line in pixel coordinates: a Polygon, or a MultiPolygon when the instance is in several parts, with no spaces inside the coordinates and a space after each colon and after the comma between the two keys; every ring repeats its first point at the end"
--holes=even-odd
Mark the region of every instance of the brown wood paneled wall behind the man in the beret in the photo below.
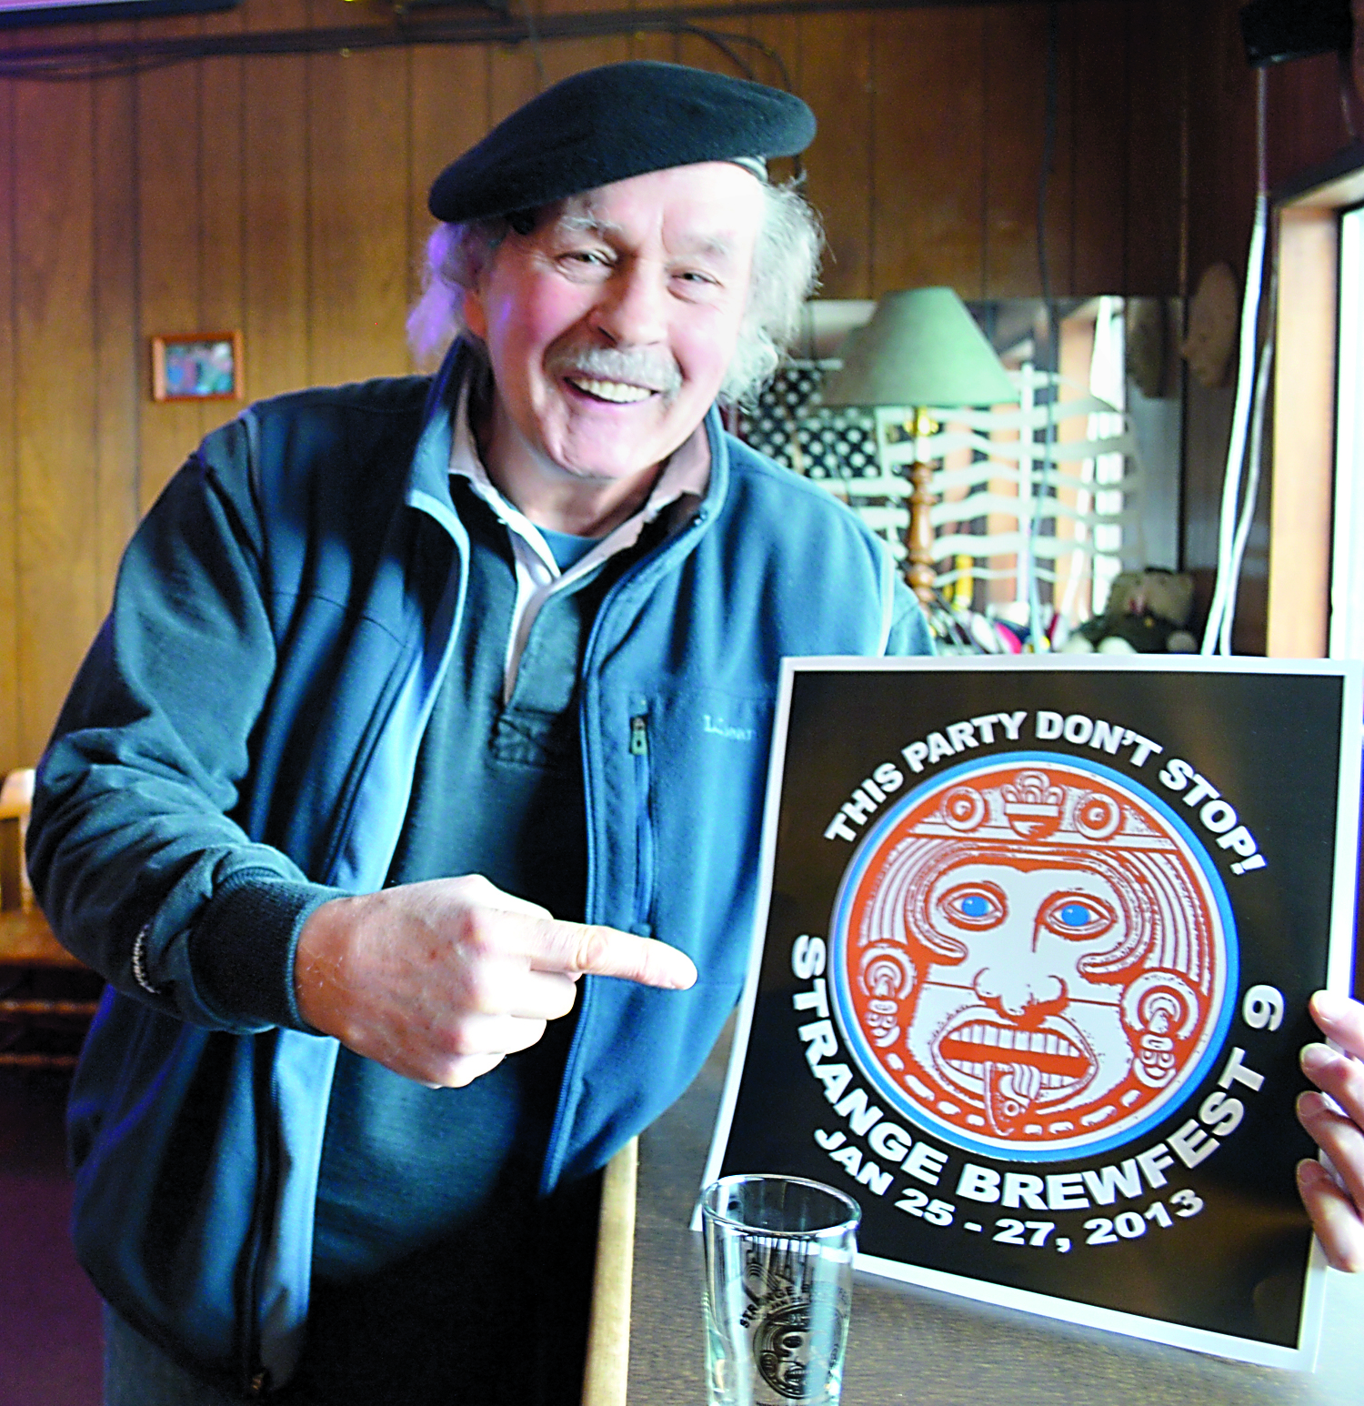
{"type": "MultiPolygon", "coordinates": [[[[1059,295],[1180,291],[1195,8],[1056,7],[1046,246],[1059,295]]],[[[357,14],[385,22],[381,8],[339,0],[245,0],[225,14],[0,42],[329,28],[357,14]]],[[[827,297],[938,283],[967,298],[1041,290],[1048,15],[1034,3],[748,22],[820,117],[807,170],[828,228],[827,297]]],[[[630,56],[733,72],[693,35],[548,42],[540,63],[553,82],[630,56]]],[[[758,76],[778,72],[761,60],[758,76]]],[[[240,328],[250,398],[408,370],[426,186],[539,82],[529,45],[0,82],[0,770],[39,754],[122,544],[186,451],[231,413],[153,404],[146,339],[240,328]]]]}

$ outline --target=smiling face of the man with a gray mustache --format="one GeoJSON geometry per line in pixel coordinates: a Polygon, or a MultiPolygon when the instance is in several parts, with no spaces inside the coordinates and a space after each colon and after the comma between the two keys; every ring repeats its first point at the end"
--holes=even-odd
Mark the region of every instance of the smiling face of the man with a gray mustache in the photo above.
{"type": "Polygon", "coordinates": [[[748,307],[762,187],[727,162],[574,197],[509,233],[464,302],[488,349],[494,482],[533,522],[599,531],[700,423],[748,307]]]}

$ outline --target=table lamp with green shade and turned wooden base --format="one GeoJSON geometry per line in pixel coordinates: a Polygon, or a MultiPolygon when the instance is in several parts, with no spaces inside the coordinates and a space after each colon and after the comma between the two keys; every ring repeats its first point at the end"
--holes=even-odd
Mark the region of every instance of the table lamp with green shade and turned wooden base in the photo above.
{"type": "Polygon", "coordinates": [[[952,288],[887,292],[865,328],[849,335],[842,367],[824,382],[824,405],[862,405],[876,411],[876,451],[883,472],[887,436],[915,441],[910,467],[907,579],[928,603],[934,593],[932,465],[918,441],[938,425],[931,409],[1015,402],[1018,391],[994,349],[952,288]]]}

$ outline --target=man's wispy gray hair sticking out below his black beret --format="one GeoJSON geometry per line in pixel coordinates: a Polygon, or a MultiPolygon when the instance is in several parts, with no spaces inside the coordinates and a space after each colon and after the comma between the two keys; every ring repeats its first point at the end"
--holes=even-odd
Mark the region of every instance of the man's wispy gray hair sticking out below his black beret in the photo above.
{"type": "MultiPolygon", "coordinates": [[[[762,228],[754,247],[748,309],[720,399],[745,405],[780,364],[800,330],[800,309],[818,280],[824,232],[820,217],[794,183],[764,186],[762,228]]],[[[422,295],[408,315],[408,343],[420,366],[435,364],[465,332],[464,292],[488,266],[520,218],[499,217],[465,225],[440,224],[426,242],[422,295]]],[[[481,350],[474,337],[470,342],[481,350]]]]}

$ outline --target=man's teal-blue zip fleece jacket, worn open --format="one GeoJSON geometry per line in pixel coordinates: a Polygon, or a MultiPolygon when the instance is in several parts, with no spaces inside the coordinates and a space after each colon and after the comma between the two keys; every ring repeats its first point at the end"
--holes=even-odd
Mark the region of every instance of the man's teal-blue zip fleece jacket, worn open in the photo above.
{"type": "MultiPolygon", "coordinates": [[[[336,1042],[298,932],[378,889],[460,624],[449,492],[467,370],[308,391],[214,432],[134,537],[42,759],[30,866],[110,983],[69,1116],[77,1254],[243,1396],[288,1379],[336,1042]]],[[[928,652],[880,543],[723,433],[695,517],[602,602],[579,689],[588,920],[692,956],[690,991],[582,983],[543,1188],[688,1085],[738,995],[783,655],[928,652]]]]}

